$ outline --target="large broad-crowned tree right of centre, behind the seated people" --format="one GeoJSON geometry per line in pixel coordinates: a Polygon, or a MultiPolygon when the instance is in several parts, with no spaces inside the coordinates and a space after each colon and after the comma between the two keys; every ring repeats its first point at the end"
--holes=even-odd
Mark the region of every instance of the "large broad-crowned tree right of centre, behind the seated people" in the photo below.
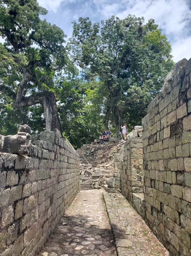
{"type": "Polygon", "coordinates": [[[112,16],[101,24],[89,18],[73,22],[68,49],[87,81],[96,77],[104,84],[104,124],[140,122],[147,105],[162,87],[173,66],[171,46],[165,35],[149,20],[129,15],[112,16]]]}

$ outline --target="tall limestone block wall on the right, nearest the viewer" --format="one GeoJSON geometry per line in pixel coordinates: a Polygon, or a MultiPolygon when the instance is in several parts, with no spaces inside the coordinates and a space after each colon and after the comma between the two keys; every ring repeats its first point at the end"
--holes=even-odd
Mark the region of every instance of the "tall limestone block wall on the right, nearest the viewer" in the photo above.
{"type": "Polygon", "coordinates": [[[165,79],[142,121],[146,219],[173,256],[191,255],[191,59],[165,79]]]}

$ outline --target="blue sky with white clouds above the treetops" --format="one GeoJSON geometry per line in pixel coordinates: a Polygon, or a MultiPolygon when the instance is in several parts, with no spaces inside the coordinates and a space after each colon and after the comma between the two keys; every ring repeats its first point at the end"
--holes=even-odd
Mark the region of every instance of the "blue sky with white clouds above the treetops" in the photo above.
{"type": "Polygon", "coordinates": [[[44,16],[70,37],[72,21],[89,17],[99,22],[128,14],[154,18],[172,45],[175,62],[191,58],[191,0],[37,0],[49,13],[44,16]]]}

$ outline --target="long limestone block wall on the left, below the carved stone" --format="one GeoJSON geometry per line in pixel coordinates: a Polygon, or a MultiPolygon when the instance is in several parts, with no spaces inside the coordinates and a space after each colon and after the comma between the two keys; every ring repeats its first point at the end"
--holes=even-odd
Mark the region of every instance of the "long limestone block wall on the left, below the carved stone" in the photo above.
{"type": "Polygon", "coordinates": [[[30,156],[0,153],[0,255],[34,256],[79,190],[79,155],[54,132],[30,156]]]}

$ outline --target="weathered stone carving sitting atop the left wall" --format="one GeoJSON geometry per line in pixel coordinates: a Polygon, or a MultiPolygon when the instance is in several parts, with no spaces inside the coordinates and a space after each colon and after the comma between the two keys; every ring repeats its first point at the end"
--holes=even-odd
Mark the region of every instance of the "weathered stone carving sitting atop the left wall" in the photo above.
{"type": "Polygon", "coordinates": [[[16,154],[16,155],[29,155],[31,151],[31,128],[24,124],[20,126],[16,135],[2,136],[2,152],[16,154]]]}

